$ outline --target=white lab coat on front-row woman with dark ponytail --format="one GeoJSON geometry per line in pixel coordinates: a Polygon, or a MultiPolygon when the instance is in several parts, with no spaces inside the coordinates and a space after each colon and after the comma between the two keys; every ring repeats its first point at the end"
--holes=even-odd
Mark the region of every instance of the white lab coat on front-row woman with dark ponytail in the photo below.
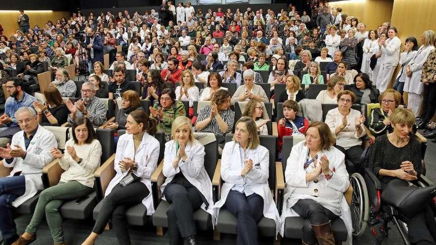
{"type": "Polygon", "coordinates": [[[108,189],[106,189],[105,197],[110,194],[112,189],[127,175],[129,171],[121,172],[118,162],[124,157],[130,157],[138,163],[138,169],[133,173],[141,177],[141,182],[147,186],[150,194],[142,199],[142,204],[147,208],[147,215],[152,215],[155,212],[153,206],[152,184],[150,178],[158,166],[159,152],[161,145],[153,136],[144,133],[141,144],[135,152],[135,145],[132,134],[123,134],[119,137],[116,145],[115,161],[113,168],[115,169],[115,177],[110,181],[108,189]]]}

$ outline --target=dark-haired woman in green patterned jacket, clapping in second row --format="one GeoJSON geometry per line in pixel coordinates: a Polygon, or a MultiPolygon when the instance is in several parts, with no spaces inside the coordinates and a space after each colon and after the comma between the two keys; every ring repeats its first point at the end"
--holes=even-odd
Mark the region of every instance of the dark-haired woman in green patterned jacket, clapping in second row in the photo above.
{"type": "Polygon", "coordinates": [[[186,110],[183,103],[175,100],[175,93],[169,88],[163,89],[159,100],[150,106],[150,113],[158,120],[158,129],[165,133],[165,140],[169,141],[171,136],[171,124],[179,116],[185,116],[186,110]]]}

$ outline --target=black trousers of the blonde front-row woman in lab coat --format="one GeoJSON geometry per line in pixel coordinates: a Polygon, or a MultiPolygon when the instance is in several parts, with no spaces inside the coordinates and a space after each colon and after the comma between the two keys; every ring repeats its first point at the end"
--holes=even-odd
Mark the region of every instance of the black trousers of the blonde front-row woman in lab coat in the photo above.
{"type": "Polygon", "coordinates": [[[197,234],[194,212],[203,204],[202,195],[183,175],[176,175],[163,193],[171,204],[166,211],[169,244],[183,245],[183,238],[197,234]]]}

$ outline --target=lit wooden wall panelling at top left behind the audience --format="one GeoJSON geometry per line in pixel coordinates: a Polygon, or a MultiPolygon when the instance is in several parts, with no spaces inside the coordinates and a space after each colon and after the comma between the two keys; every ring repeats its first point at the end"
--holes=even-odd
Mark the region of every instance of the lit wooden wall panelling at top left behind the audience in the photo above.
{"type": "MultiPolygon", "coordinates": [[[[39,25],[44,28],[44,24],[51,20],[56,23],[57,19],[62,17],[67,18],[70,13],[67,11],[24,11],[30,18],[30,26],[33,28],[34,25],[39,25]]],[[[18,11],[0,11],[0,23],[3,26],[3,35],[9,37],[13,35],[18,26],[18,16],[20,12],[18,11]]]]}

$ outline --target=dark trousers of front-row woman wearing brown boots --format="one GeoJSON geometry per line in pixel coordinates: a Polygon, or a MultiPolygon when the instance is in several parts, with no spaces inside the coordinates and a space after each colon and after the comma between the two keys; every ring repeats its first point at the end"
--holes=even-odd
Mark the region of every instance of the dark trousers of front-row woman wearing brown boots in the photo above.
{"type": "Polygon", "coordinates": [[[298,200],[292,209],[294,209],[300,217],[305,219],[303,226],[303,242],[309,245],[318,244],[318,240],[312,230],[312,225],[326,224],[328,221],[333,222],[338,218],[332,211],[311,199],[298,200]]]}

